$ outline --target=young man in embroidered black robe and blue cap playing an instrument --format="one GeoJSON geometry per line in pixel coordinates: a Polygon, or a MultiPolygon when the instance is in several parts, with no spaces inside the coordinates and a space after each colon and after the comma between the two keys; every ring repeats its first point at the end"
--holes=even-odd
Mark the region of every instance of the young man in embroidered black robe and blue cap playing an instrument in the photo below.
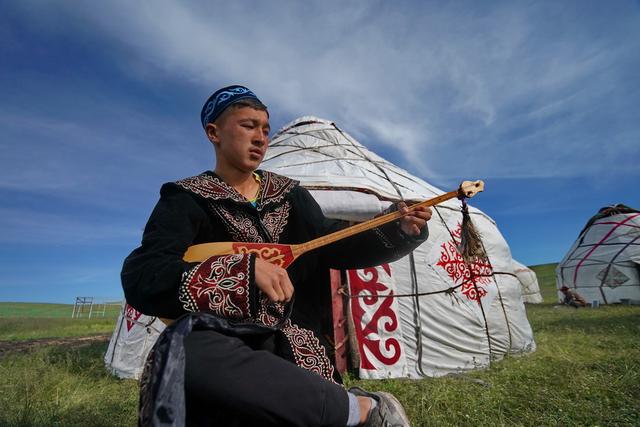
{"type": "Polygon", "coordinates": [[[287,270],[254,253],[182,257],[206,242],[296,244],[345,227],[296,181],[258,170],[267,108],[243,86],[201,113],[216,167],[165,184],[122,283],[139,311],[175,320],[141,380],[141,425],[407,426],[387,393],[346,391],[332,363],[329,268],[378,265],[427,237],[428,208],[300,257],[287,270]]]}

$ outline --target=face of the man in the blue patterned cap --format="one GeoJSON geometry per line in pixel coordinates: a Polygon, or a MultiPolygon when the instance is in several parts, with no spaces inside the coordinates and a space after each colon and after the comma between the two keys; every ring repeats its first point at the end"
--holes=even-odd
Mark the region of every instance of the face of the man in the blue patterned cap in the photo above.
{"type": "Polygon", "coordinates": [[[253,172],[269,145],[269,116],[251,107],[225,111],[215,124],[207,125],[207,136],[216,147],[216,168],[253,172]]]}

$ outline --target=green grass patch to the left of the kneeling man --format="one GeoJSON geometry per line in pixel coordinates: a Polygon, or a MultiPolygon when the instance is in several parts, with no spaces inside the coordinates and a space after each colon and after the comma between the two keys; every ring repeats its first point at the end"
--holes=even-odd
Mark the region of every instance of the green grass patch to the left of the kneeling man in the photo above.
{"type": "Polygon", "coordinates": [[[0,425],[134,426],[138,384],[104,368],[105,343],[0,358],[0,425]]]}

